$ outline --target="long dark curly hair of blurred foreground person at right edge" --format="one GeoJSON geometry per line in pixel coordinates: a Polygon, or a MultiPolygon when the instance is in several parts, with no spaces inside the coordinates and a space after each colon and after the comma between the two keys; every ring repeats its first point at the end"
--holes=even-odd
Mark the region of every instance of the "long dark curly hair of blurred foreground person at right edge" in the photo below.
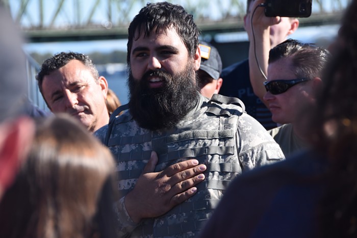
{"type": "Polygon", "coordinates": [[[330,165],[319,205],[321,237],[357,237],[357,0],[346,9],[310,124],[311,140],[330,165]]]}

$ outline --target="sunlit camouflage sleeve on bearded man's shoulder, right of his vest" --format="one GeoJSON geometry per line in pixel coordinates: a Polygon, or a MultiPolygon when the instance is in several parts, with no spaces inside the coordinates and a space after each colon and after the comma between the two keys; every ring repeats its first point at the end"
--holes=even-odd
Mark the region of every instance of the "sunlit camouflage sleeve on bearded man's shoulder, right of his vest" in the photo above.
{"type": "Polygon", "coordinates": [[[243,171],[285,159],[280,146],[254,118],[244,113],[239,118],[237,148],[243,171]]]}

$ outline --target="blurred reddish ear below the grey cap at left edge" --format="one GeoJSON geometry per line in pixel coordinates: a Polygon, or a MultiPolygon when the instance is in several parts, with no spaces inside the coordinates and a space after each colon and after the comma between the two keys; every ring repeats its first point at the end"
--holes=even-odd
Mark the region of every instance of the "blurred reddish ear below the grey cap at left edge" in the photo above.
{"type": "Polygon", "coordinates": [[[34,121],[28,117],[0,124],[0,197],[28,156],[34,134],[34,121]]]}

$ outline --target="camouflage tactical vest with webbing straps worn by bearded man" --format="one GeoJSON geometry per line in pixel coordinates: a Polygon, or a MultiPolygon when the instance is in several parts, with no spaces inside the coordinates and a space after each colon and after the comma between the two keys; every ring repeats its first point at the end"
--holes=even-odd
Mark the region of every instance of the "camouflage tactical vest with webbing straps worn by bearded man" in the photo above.
{"type": "Polygon", "coordinates": [[[134,188],[152,150],[159,156],[156,171],[190,158],[207,165],[206,179],[196,186],[193,197],[161,217],[145,219],[132,233],[134,237],[198,235],[223,191],[242,172],[237,128],[243,112],[244,104],[239,99],[214,95],[170,130],[143,129],[129,113],[111,120],[106,143],[116,156],[121,196],[134,188]]]}

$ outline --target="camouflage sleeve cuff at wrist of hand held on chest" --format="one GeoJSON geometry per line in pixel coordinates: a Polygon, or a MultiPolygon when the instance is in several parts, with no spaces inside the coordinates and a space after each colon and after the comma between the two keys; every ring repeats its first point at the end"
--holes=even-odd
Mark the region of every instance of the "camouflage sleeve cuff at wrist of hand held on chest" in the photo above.
{"type": "Polygon", "coordinates": [[[115,203],[115,213],[117,215],[119,227],[119,237],[125,237],[129,235],[140,223],[135,223],[127,213],[125,208],[125,196],[115,203]]]}

